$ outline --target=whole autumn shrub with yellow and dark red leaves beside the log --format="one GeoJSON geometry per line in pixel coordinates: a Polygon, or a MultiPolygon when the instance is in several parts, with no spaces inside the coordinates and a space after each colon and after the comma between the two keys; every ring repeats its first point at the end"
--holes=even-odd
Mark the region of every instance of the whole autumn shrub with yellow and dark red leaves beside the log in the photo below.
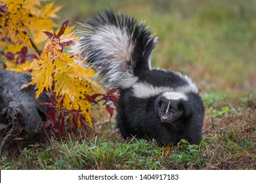
{"type": "Polygon", "coordinates": [[[35,85],[35,97],[43,92],[49,95],[46,105],[47,120],[44,128],[51,127],[54,133],[65,135],[65,127],[81,128],[87,131],[91,122],[91,103],[105,101],[106,110],[113,115],[117,101],[116,90],[106,95],[91,78],[95,72],[89,67],[81,67],[74,54],[65,53],[75,39],[70,32],[68,21],[64,22],[58,33],[53,22],[60,7],[54,2],[41,5],[42,0],[23,1],[5,0],[0,2],[0,55],[3,69],[21,73],[30,72],[35,85]],[[44,44],[43,50],[39,46],[44,44]]]}

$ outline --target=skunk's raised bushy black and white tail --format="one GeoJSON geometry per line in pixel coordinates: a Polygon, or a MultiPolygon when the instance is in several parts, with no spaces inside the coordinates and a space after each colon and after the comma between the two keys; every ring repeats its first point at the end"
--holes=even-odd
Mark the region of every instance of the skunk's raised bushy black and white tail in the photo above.
{"type": "Polygon", "coordinates": [[[151,68],[156,38],[135,18],[104,12],[81,25],[89,31],[81,31],[73,52],[96,69],[106,88],[129,88],[151,68]]]}

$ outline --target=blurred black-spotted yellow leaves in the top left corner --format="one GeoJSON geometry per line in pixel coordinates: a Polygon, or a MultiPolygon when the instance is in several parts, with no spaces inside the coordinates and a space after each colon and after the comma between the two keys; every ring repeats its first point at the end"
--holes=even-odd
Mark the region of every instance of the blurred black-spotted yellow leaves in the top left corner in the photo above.
{"type": "Polygon", "coordinates": [[[54,5],[54,1],[42,7],[42,1],[47,0],[0,1],[0,5],[7,5],[7,14],[0,13],[0,39],[10,37],[14,44],[29,46],[32,50],[30,39],[37,46],[46,41],[48,37],[43,31],[54,31],[57,25],[52,18],[58,18],[56,12],[61,7],[54,5]]]}

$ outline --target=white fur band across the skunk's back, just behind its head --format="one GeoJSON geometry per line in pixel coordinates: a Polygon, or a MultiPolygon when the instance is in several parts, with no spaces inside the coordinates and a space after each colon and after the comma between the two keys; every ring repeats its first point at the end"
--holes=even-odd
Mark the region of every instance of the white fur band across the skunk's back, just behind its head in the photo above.
{"type": "MultiPolygon", "coordinates": [[[[169,88],[165,86],[156,87],[147,83],[136,83],[133,85],[133,95],[137,98],[148,98],[156,95],[160,95],[164,92],[175,92],[175,93],[198,93],[196,84],[192,83],[186,86],[180,86],[178,88],[169,88]]],[[[177,97],[176,97],[177,98],[177,97]]]]}

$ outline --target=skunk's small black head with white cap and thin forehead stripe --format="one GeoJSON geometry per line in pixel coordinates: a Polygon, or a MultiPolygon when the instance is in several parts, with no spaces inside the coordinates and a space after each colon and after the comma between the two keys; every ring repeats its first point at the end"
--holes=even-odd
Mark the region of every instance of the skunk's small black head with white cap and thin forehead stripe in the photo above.
{"type": "Polygon", "coordinates": [[[179,92],[165,92],[156,99],[156,108],[162,122],[171,123],[188,114],[188,97],[179,92]]]}

